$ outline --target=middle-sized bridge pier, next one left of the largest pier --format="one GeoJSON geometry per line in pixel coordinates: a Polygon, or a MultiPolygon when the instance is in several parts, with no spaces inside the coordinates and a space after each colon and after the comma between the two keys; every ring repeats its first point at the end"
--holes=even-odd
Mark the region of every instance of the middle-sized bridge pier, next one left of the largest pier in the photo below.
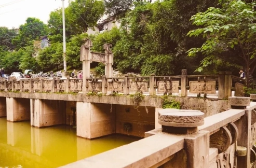
{"type": "Polygon", "coordinates": [[[65,123],[64,101],[31,99],[30,104],[32,126],[41,128],[65,123]]]}

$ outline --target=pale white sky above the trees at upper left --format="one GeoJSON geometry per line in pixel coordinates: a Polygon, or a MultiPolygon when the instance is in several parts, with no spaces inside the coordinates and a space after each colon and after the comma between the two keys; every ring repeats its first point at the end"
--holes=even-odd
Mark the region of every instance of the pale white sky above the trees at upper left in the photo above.
{"type": "MultiPolygon", "coordinates": [[[[67,7],[68,0],[64,4],[67,7]]],[[[61,0],[0,0],[0,26],[18,28],[28,17],[47,23],[50,12],[61,7],[61,0]]]]}

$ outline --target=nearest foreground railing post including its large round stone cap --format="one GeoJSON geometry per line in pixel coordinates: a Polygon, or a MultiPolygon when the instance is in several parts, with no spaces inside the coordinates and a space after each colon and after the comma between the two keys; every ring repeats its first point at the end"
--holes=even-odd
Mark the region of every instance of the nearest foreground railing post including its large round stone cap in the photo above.
{"type": "Polygon", "coordinates": [[[158,110],[158,123],[162,125],[162,132],[187,135],[184,138],[187,167],[209,167],[210,133],[197,131],[197,127],[204,124],[204,115],[199,110],[158,110]]]}

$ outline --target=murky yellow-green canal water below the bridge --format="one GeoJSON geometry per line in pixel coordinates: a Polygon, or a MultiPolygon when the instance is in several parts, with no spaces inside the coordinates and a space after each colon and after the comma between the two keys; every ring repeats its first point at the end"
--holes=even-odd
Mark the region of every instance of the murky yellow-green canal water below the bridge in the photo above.
{"type": "Polygon", "coordinates": [[[122,135],[89,140],[77,137],[76,129],[65,125],[38,129],[30,121],[0,118],[0,168],[59,167],[137,140],[122,135]]]}

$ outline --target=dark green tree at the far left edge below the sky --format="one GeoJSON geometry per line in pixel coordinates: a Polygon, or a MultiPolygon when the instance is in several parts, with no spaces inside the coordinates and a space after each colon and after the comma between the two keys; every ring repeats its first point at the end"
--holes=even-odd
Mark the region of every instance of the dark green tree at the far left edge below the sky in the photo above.
{"type": "Polygon", "coordinates": [[[11,29],[9,30],[7,27],[0,27],[0,46],[5,51],[14,50],[15,46],[11,43],[11,40],[14,39],[18,33],[11,29]]]}

